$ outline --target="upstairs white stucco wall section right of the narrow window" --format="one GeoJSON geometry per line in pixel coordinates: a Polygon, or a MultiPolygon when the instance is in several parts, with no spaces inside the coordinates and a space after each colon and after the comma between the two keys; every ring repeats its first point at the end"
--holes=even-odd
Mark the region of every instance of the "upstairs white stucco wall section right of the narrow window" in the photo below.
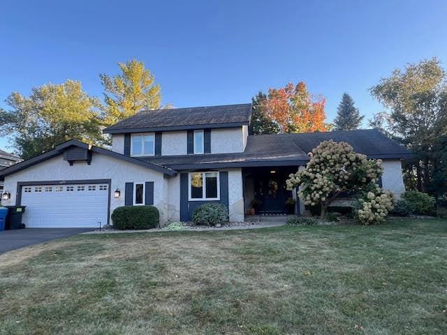
{"type": "Polygon", "coordinates": [[[228,154],[230,152],[244,151],[244,140],[242,127],[212,129],[211,131],[211,153],[228,154]]]}

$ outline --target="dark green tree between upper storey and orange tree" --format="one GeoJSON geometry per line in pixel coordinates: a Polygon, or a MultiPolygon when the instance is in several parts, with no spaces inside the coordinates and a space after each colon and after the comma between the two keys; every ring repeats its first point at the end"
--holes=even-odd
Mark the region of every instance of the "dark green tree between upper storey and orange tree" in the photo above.
{"type": "Polygon", "coordinates": [[[256,96],[251,98],[251,122],[250,134],[277,134],[279,126],[276,124],[265,111],[265,101],[267,96],[263,92],[258,92],[256,96]]]}

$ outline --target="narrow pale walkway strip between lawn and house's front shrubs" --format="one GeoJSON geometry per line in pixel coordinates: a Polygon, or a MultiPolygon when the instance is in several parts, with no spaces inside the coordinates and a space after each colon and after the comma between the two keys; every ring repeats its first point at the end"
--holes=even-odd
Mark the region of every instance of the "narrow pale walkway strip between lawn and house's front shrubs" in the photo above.
{"type": "Polygon", "coordinates": [[[83,234],[122,234],[127,232],[217,232],[219,230],[247,230],[258,228],[279,227],[285,225],[285,222],[267,222],[247,225],[233,225],[228,227],[204,227],[204,228],[182,228],[182,229],[164,229],[154,228],[146,230],[93,230],[91,232],[84,232],[83,234]]]}

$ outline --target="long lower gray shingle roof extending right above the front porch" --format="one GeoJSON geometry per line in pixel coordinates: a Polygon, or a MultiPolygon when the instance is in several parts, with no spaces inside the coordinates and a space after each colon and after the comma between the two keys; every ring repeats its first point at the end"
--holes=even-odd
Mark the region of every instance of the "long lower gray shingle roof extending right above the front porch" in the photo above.
{"type": "Polygon", "coordinates": [[[141,158],[173,170],[188,168],[230,168],[248,166],[301,165],[309,161],[307,153],[324,140],[348,142],[354,151],[369,158],[406,158],[411,152],[376,130],[331,131],[250,135],[242,153],[158,156],[141,158]]]}

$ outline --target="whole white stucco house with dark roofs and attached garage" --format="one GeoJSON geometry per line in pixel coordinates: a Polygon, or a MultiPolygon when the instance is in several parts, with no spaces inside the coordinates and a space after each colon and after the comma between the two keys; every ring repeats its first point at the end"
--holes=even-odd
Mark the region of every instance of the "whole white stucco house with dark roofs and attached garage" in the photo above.
{"type": "Polygon", "coordinates": [[[7,202],[27,206],[28,227],[94,227],[142,204],[154,204],[161,223],[189,221],[205,202],[228,207],[230,221],[244,220],[253,200],[281,214],[295,197],[288,174],[330,139],[383,159],[383,188],[404,191],[400,160],[411,153],[379,131],[248,135],[250,118],[250,104],[138,112],[105,129],[112,150],[71,140],[1,171],[7,202]]]}

